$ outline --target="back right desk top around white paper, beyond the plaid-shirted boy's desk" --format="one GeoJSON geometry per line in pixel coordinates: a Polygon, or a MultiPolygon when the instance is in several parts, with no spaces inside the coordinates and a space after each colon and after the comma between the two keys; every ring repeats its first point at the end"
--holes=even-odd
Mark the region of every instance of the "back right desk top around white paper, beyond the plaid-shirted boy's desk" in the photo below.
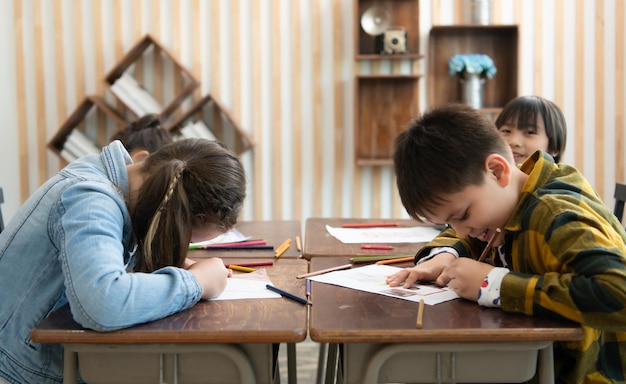
{"type": "Polygon", "coordinates": [[[318,256],[374,256],[415,255],[426,243],[394,243],[392,250],[361,249],[361,244],[345,244],[328,233],[326,225],[341,227],[349,223],[396,223],[398,227],[430,226],[409,219],[344,219],[310,218],[305,223],[305,242],[302,256],[310,260],[318,256]]]}

